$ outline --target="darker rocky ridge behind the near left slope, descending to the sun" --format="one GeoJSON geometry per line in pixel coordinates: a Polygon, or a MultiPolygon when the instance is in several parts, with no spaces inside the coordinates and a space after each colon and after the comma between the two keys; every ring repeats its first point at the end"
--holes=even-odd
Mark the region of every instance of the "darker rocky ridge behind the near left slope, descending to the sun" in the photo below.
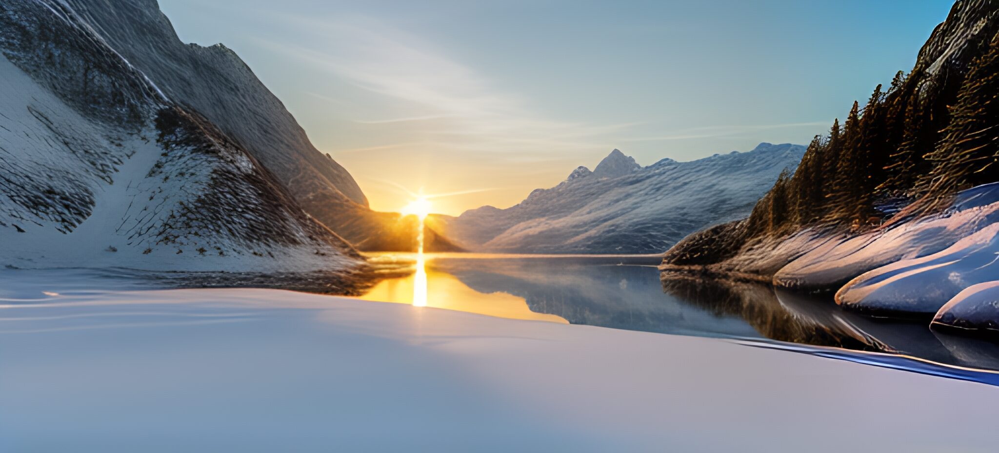
{"type": "MultiPolygon", "coordinates": [[[[52,1],[52,0],[50,0],[52,1]]],[[[372,211],[354,178],[305,131],[235,52],[184,44],[156,0],[62,0],[163,93],[204,115],[313,217],[362,250],[412,250],[415,224],[372,211]]],[[[428,236],[437,238],[433,231],[428,236]]],[[[431,249],[457,250],[439,238],[431,249]]]]}

